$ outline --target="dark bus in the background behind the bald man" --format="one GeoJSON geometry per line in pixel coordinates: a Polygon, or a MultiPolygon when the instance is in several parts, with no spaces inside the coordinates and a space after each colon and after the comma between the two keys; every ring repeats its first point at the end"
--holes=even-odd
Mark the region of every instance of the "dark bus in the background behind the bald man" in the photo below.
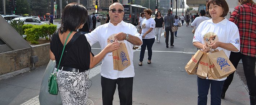
{"type": "Polygon", "coordinates": [[[138,25],[140,13],[147,9],[140,5],[135,4],[122,4],[124,6],[124,18],[123,21],[131,23],[133,25],[138,25]]]}

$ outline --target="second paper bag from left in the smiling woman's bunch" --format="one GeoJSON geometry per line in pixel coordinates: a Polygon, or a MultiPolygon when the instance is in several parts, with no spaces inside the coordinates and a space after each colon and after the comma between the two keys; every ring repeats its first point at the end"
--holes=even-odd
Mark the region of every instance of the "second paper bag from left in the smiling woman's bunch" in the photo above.
{"type": "Polygon", "coordinates": [[[197,68],[197,75],[199,78],[206,79],[208,73],[209,65],[209,57],[207,53],[203,54],[203,57],[200,59],[198,68],[197,68]]]}

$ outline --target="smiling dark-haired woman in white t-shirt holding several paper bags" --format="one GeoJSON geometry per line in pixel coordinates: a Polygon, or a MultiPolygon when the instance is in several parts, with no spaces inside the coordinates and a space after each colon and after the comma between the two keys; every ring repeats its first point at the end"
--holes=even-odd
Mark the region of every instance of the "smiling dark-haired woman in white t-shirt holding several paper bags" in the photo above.
{"type": "MultiPolygon", "coordinates": [[[[227,57],[230,52],[239,52],[239,32],[237,26],[224,18],[229,7],[225,0],[211,0],[207,3],[208,11],[212,19],[205,20],[199,24],[193,39],[193,45],[202,51],[209,51],[206,44],[208,43],[213,49],[223,50],[227,57]],[[213,38],[214,37],[214,38],[213,38]],[[208,39],[213,38],[210,41],[208,39]]],[[[198,86],[198,105],[207,104],[207,95],[211,86],[211,105],[221,105],[221,92],[226,77],[218,80],[208,78],[197,78],[198,86]]]]}

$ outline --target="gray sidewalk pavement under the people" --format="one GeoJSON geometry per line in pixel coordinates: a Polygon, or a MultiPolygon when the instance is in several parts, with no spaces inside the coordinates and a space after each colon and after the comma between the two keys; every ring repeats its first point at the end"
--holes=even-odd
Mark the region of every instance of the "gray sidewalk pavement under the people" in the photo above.
{"type": "MultiPolygon", "coordinates": [[[[140,49],[134,52],[135,77],[133,80],[133,105],[196,105],[197,76],[188,75],[185,65],[196,51],[192,45],[192,28],[179,27],[175,37],[175,47],[166,48],[165,38],[153,45],[152,63],[147,64],[147,51],[142,66],[138,66],[140,49]]],[[[100,52],[98,44],[92,46],[94,54],[100,52]]],[[[27,73],[0,81],[0,105],[20,105],[39,95],[41,80],[45,66],[27,73]]],[[[97,71],[95,68],[93,71],[97,71]]],[[[94,105],[102,105],[101,76],[91,73],[92,86],[89,89],[89,99],[94,105]]],[[[208,105],[210,104],[210,90],[208,105]]],[[[226,92],[222,105],[249,105],[249,95],[244,83],[237,73],[226,92]]],[[[114,105],[119,105],[118,91],[114,95],[114,105]]],[[[26,105],[26,104],[25,104],[26,105]]]]}

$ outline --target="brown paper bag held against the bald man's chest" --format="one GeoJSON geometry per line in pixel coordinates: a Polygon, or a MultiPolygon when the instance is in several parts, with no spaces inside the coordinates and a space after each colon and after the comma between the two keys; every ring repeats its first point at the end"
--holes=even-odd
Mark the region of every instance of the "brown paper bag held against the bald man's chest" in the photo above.
{"type": "Polygon", "coordinates": [[[129,54],[125,43],[120,43],[120,48],[112,51],[114,70],[123,71],[131,65],[129,54]]]}

